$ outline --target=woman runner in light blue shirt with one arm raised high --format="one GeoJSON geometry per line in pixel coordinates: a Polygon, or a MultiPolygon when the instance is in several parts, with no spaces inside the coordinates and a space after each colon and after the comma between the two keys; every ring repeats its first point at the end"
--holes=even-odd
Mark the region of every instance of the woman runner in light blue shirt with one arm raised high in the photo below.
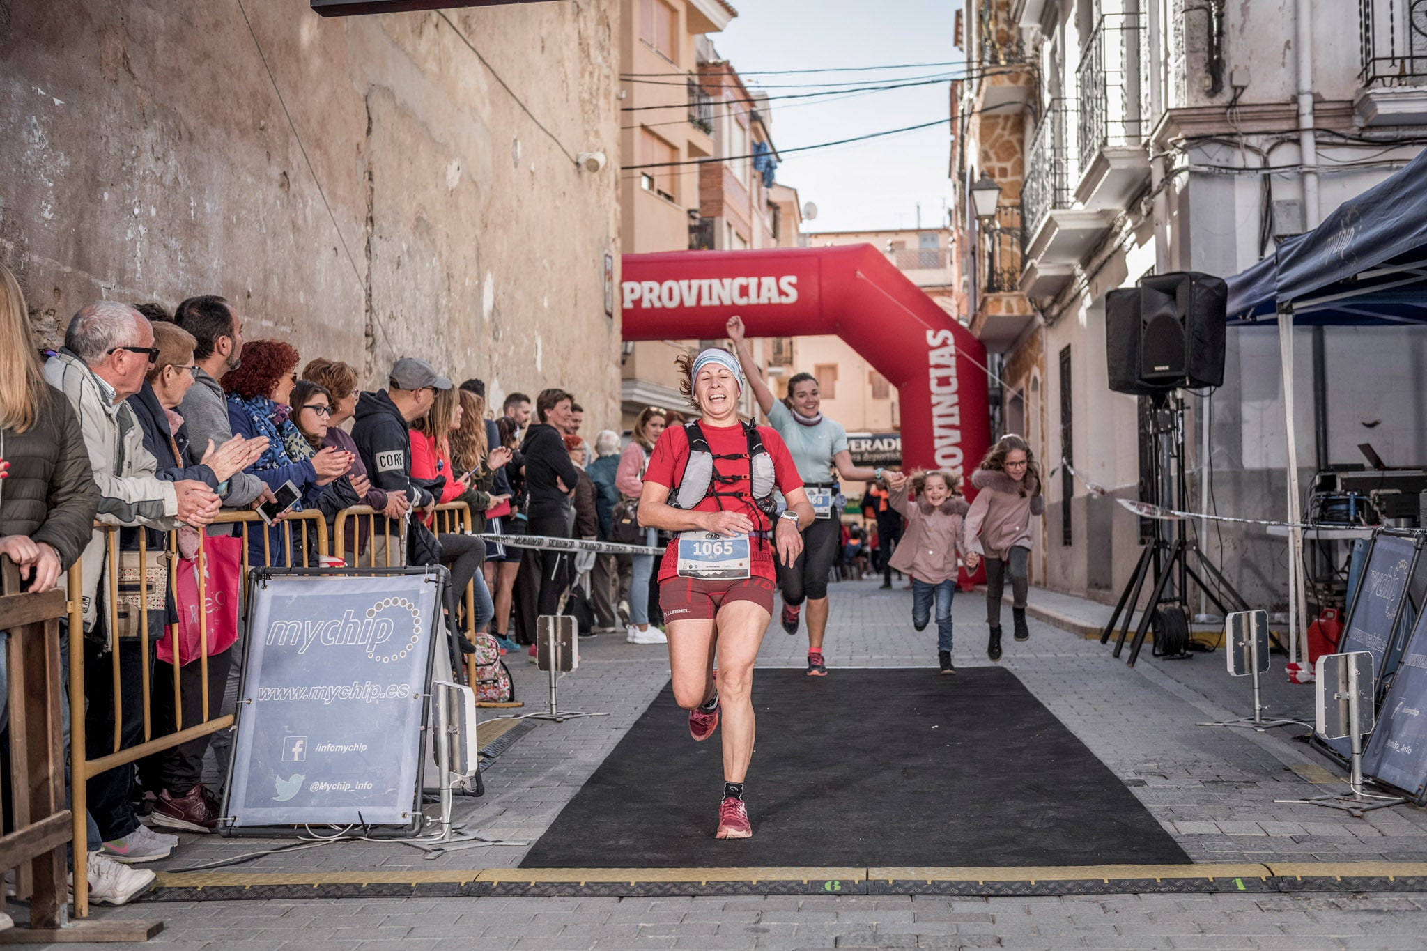
{"type": "Polygon", "coordinates": [[[743,376],[753,388],[759,408],[788,445],[798,466],[816,518],[803,529],[803,550],[792,565],[778,565],[778,586],[783,592],[782,624],[798,633],[798,617],[808,602],[808,676],[828,676],[822,659],[822,640],[828,630],[828,575],[838,560],[842,512],[838,478],[849,482],[880,479],[882,469],[852,465],[848,431],[819,412],[821,395],[812,374],[798,374],[788,381],[788,399],[779,401],[763,381],[745,339],[743,318],[728,319],[743,376]]]}

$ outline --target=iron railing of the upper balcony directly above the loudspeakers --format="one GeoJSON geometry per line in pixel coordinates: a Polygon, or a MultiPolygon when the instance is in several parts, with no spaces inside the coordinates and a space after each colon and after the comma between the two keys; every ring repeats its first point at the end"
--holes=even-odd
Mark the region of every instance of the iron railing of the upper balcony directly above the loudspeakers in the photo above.
{"type": "MultiPolygon", "coordinates": [[[[1086,170],[1106,145],[1137,145],[1144,141],[1149,108],[1142,96],[1140,14],[1106,13],[1086,44],[1076,80],[1080,90],[1080,168],[1086,170]]],[[[1144,87],[1149,83],[1143,84],[1144,87]]],[[[1147,91],[1147,88],[1146,88],[1147,91]]]]}

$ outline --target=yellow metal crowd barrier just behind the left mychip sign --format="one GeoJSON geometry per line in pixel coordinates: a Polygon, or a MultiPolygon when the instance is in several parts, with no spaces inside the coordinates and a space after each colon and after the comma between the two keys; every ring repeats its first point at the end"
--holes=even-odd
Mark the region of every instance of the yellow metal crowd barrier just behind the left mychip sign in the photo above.
{"type": "MultiPolygon", "coordinates": [[[[241,624],[243,615],[247,609],[247,575],[251,567],[255,566],[273,566],[274,565],[274,550],[273,550],[273,536],[268,526],[258,518],[255,512],[251,510],[223,510],[214,519],[214,525],[235,525],[235,535],[243,539],[243,572],[238,585],[238,619],[241,624]],[[263,560],[261,563],[253,562],[253,546],[250,545],[250,530],[257,526],[261,533],[263,545],[263,560]]],[[[283,539],[281,555],[287,552],[288,555],[278,559],[277,563],[301,563],[317,566],[324,562],[328,555],[328,540],[327,540],[327,520],[323,518],[321,512],[291,512],[278,525],[280,535],[283,539]],[[301,530],[294,530],[294,526],[301,526],[301,530]],[[308,530],[308,528],[314,530],[308,530]],[[300,555],[300,557],[298,557],[300,555]]],[[[133,529],[137,530],[138,536],[138,566],[140,566],[140,582],[138,582],[138,637],[141,644],[143,657],[141,663],[141,696],[143,696],[143,714],[144,714],[144,739],[141,743],[130,747],[123,747],[123,684],[120,682],[120,634],[118,634],[118,567],[120,567],[120,546],[118,533],[124,529],[113,525],[96,523],[94,529],[103,532],[104,535],[104,560],[106,560],[106,596],[97,599],[107,613],[104,619],[107,623],[108,637],[110,637],[110,662],[113,664],[113,692],[114,692],[114,743],[113,751],[100,756],[98,759],[88,759],[86,746],[86,724],[84,724],[84,710],[86,710],[86,696],[84,696],[84,613],[83,613],[83,592],[84,583],[81,579],[80,563],[77,562],[68,572],[68,622],[70,622],[70,759],[71,759],[71,803],[73,803],[73,841],[74,848],[74,881],[83,883],[87,880],[87,855],[84,850],[86,841],[86,823],[84,813],[87,810],[88,791],[86,781],[121,766],[130,766],[138,760],[153,756],[154,753],[161,753],[170,750],[176,746],[195,740],[218,730],[224,730],[233,726],[233,714],[223,714],[210,717],[210,701],[208,701],[208,616],[205,610],[198,612],[198,643],[200,656],[194,663],[200,664],[200,683],[203,690],[203,716],[198,723],[184,726],[183,723],[183,690],[180,684],[180,656],[178,656],[178,630],[177,624],[168,624],[166,634],[163,637],[170,637],[173,643],[173,669],[174,669],[174,723],[173,730],[168,733],[160,733],[154,736],[154,723],[150,709],[151,700],[151,684],[150,684],[150,664],[147,659],[151,657],[151,650],[156,644],[151,643],[148,636],[148,585],[147,585],[147,555],[148,555],[148,532],[153,529],[133,529]]],[[[178,540],[177,532],[164,533],[164,548],[161,563],[166,566],[168,596],[173,597],[174,603],[178,605],[177,585],[178,573],[174,566],[178,560],[178,540]]],[[[197,567],[197,583],[198,583],[198,603],[207,603],[207,556],[200,546],[198,549],[198,567],[197,567]]],[[[133,639],[124,639],[133,640],[133,639]]],[[[56,637],[56,644],[59,637],[56,637]]],[[[241,649],[240,644],[234,644],[234,650],[241,649]]],[[[157,662],[156,662],[157,663],[157,662]]],[[[13,696],[13,694],[11,694],[13,696]]],[[[158,724],[160,729],[168,724],[158,724]]],[[[59,723],[56,721],[56,733],[59,731],[59,723]]],[[[60,744],[56,743],[56,749],[60,744]]],[[[61,800],[63,803],[63,791],[61,800]]],[[[61,883],[63,884],[63,883],[61,883]]],[[[88,914],[88,890],[76,888],[74,890],[74,914],[76,917],[86,917],[88,914]]]]}

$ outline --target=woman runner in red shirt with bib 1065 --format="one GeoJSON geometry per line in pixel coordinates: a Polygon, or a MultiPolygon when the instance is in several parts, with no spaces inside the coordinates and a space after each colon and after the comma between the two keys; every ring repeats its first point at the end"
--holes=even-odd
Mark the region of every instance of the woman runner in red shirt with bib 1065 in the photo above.
{"type": "Polygon", "coordinates": [[[679,389],[701,413],[695,436],[702,435],[706,452],[695,458],[684,426],[664,431],[644,473],[639,523],[679,533],[659,567],[674,699],[689,711],[689,733],[699,741],[714,734],[722,710],[716,837],[748,838],[753,830],[743,777],[753,754],[753,662],[773,616],[773,549],[791,565],[813,510],[778,432],[745,428],[738,418],[743,391],[738,359],[711,348],[692,359],[681,356],[679,369],[679,389]],[[788,500],[781,515],[771,515],[771,483],[788,500]]]}

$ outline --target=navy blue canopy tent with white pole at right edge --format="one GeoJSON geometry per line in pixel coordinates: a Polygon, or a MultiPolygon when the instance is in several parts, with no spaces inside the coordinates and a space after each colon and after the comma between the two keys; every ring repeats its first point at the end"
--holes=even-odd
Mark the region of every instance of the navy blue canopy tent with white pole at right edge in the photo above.
{"type": "Polygon", "coordinates": [[[1293,432],[1293,325],[1427,322],[1427,151],[1313,231],[1229,278],[1229,325],[1279,324],[1289,455],[1289,660],[1307,627],[1299,453],[1293,432]]]}

